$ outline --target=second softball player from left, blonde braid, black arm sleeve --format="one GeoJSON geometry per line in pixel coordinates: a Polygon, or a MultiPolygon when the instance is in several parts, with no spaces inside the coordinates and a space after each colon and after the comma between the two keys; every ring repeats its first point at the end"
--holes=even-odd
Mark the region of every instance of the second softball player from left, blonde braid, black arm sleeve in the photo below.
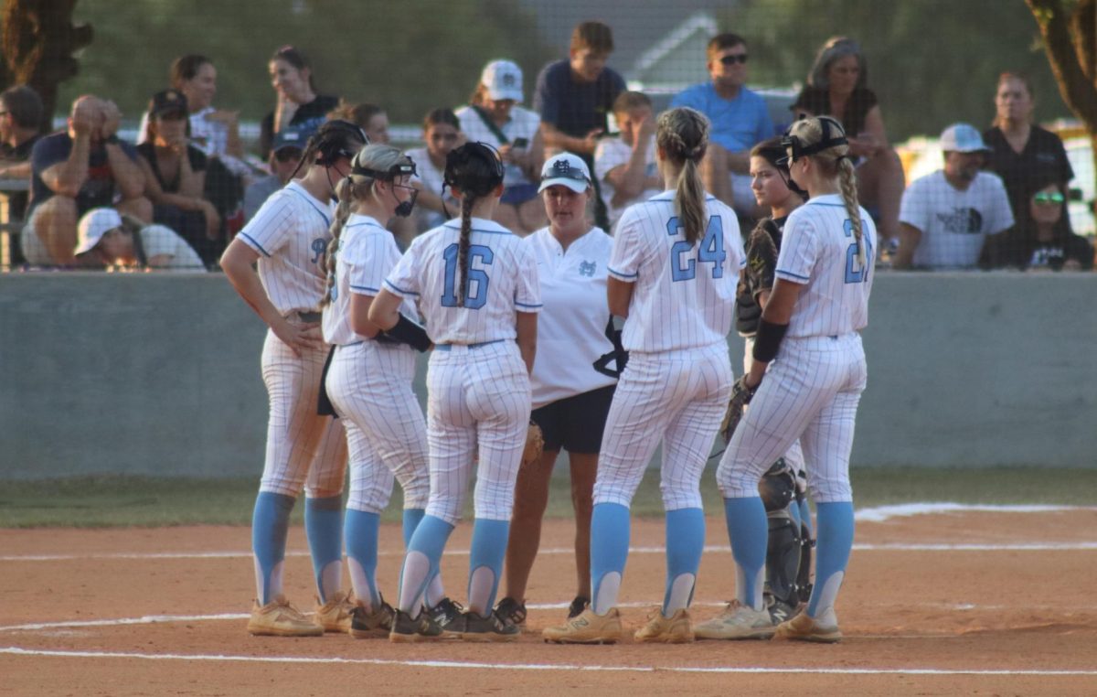
{"type": "MultiPolygon", "coordinates": [[[[388,504],[393,474],[404,490],[404,541],[411,539],[427,506],[427,424],[411,391],[415,350],[427,350],[427,333],[410,318],[415,305],[400,307],[402,324],[378,331],[367,316],[385,276],[399,261],[393,234],[382,221],[411,214],[418,191],[415,162],[387,145],[367,145],[339,181],[328,246],[328,291],[324,297],[324,340],[333,347],[327,394],[343,417],[350,447],[350,495],[343,536],[358,600],[350,633],[388,636],[393,608],[377,589],[377,530],[388,504]]],[[[438,606],[441,577],[428,604],[438,606]],[[433,603],[430,603],[433,598],[433,603]]]]}

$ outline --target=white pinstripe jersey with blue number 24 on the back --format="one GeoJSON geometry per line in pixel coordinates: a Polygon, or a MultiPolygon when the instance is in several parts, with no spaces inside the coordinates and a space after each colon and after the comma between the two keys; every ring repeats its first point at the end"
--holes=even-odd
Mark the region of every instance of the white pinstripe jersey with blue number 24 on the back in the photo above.
{"type": "Polygon", "coordinates": [[[670,351],[725,341],[745,263],[733,211],[705,196],[705,228],[686,241],[674,191],[629,206],[618,222],[609,271],[635,283],[621,339],[630,351],[670,351]]]}

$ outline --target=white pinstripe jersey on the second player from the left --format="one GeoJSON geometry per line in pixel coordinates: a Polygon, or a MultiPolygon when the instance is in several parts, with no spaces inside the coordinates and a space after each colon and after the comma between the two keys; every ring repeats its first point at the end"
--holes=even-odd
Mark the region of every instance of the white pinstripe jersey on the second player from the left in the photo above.
{"type": "MultiPolygon", "coordinates": [[[[346,346],[365,337],[355,334],[350,324],[352,293],[374,296],[393,267],[400,260],[400,250],[393,234],[369,215],[352,214],[339,234],[336,255],[336,284],[331,303],[324,308],[324,340],[346,346]]],[[[400,313],[418,321],[415,304],[405,300],[400,313]]]]}

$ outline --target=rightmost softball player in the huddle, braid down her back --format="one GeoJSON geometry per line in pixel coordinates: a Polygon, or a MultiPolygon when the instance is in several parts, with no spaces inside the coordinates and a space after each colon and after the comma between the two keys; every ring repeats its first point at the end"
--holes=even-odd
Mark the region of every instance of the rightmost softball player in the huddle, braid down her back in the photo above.
{"type": "Polygon", "coordinates": [[[767,531],[758,480],[799,438],[812,463],[807,479],[817,510],[815,585],[805,610],[779,625],[774,636],[834,642],[841,638],[834,604],[853,543],[849,452],[867,381],[859,331],[868,324],[877,231],[857,203],[837,121],[798,121],[782,144],[790,175],[810,200],[784,226],[777,281],[742,379],[757,393],[716,471],[736,600],[706,629],[726,639],[774,634],[761,597],[767,531]]]}

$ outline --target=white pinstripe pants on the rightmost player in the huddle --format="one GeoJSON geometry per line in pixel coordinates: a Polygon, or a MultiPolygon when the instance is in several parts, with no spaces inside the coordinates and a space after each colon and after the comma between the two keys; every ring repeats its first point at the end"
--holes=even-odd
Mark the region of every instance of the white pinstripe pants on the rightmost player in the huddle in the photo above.
{"type": "Polygon", "coordinates": [[[758,495],[758,480],[799,438],[816,503],[852,501],[849,453],[868,383],[857,333],[785,337],[716,470],[725,498],[758,495]]]}

